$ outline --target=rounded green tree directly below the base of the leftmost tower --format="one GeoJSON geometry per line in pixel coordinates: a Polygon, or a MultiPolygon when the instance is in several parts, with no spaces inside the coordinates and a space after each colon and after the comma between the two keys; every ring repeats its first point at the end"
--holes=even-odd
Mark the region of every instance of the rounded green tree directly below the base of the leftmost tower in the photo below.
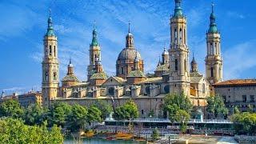
{"type": "Polygon", "coordinates": [[[71,106],[66,102],[55,102],[47,114],[47,119],[49,122],[49,126],[64,126],[67,121],[67,116],[71,112],[71,106]]]}

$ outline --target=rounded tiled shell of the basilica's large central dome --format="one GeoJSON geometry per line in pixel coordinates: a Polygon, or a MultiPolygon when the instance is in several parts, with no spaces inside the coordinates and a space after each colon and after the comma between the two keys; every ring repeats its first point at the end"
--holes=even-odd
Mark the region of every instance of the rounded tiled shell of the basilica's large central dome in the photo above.
{"type": "Polygon", "coordinates": [[[130,49],[130,48],[122,49],[122,51],[118,55],[118,60],[130,60],[133,62],[136,57],[136,53],[137,53],[138,59],[142,60],[141,54],[139,54],[137,50],[130,49]]]}

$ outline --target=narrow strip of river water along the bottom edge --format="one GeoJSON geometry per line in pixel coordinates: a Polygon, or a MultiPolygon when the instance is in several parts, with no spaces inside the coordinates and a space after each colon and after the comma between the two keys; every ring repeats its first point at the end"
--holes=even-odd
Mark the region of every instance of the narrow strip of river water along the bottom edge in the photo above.
{"type": "MultiPolygon", "coordinates": [[[[76,144],[77,141],[74,139],[65,139],[64,144],[76,144]]],[[[82,143],[84,144],[146,144],[146,142],[136,142],[136,141],[122,141],[122,140],[113,140],[108,141],[102,138],[82,138],[82,143]]]]}

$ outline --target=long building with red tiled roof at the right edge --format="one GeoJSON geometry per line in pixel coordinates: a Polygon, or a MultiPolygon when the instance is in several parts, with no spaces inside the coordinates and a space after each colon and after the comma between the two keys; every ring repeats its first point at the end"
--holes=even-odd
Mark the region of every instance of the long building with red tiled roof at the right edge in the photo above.
{"type": "Polygon", "coordinates": [[[226,107],[231,113],[234,106],[239,110],[246,111],[251,105],[256,111],[256,79],[233,79],[214,84],[216,94],[224,99],[226,107]]]}

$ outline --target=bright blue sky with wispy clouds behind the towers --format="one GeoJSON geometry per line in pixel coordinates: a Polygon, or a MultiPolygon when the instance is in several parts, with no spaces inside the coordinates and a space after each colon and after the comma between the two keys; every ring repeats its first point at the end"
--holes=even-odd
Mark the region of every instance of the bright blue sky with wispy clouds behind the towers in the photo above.
{"type": "MultiPolygon", "coordinates": [[[[202,74],[211,2],[182,1],[188,19],[190,52],[194,51],[202,74]]],[[[222,34],[224,79],[255,78],[256,1],[214,0],[214,3],[222,34]]],[[[32,87],[40,90],[42,37],[46,33],[49,9],[58,36],[60,78],[66,74],[71,57],[75,74],[81,81],[86,79],[94,21],[102,46],[102,65],[109,75],[115,74],[115,61],[125,46],[129,21],[146,72],[154,71],[163,47],[170,44],[169,18],[174,12],[174,0],[0,0],[1,91],[26,92],[32,87]]]]}

